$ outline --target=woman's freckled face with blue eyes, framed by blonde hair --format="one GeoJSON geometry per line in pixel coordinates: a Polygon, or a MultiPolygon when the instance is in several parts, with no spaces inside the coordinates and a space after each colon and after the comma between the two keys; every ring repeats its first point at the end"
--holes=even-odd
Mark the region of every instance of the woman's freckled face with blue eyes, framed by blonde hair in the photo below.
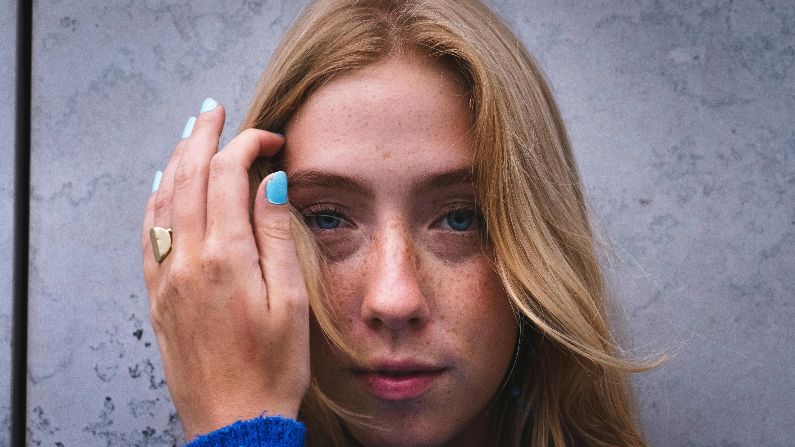
{"type": "Polygon", "coordinates": [[[484,249],[467,98],[437,67],[387,61],[326,84],[285,129],[290,201],[328,264],[344,335],[312,327],[332,399],[383,430],[363,445],[481,445],[517,324],[484,249]]]}

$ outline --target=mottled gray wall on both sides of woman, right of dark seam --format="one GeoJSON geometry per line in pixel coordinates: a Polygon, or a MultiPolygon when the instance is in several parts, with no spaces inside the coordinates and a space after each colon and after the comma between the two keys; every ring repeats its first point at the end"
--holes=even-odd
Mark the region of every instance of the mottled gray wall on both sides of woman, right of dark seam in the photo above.
{"type": "MultiPolygon", "coordinates": [[[[231,138],[300,3],[35,3],[29,444],[182,442],[142,210],[205,97],[231,138]]],[[[793,445],[793,3],[494,6],[553,84],[636,342],[679,343],[638,377],[650,444],[793,445]]]]}

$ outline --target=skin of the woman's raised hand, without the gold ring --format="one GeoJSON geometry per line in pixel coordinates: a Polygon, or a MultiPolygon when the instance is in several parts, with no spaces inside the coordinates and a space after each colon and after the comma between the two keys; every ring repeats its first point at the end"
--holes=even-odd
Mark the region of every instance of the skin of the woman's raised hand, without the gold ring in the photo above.
{"type": "Polygon", "coordinates": [[[218,151],[223,106],[196,118],[149,197],[143,224],[149,310],[185,437],[239,419],[297,418],[309,383],[309,306],[289,205],[265,198],[249,220],[246,172],[285,139],[248,129],[218,151]],[[173,229],[155,262],[153,226],[173,229]]]}

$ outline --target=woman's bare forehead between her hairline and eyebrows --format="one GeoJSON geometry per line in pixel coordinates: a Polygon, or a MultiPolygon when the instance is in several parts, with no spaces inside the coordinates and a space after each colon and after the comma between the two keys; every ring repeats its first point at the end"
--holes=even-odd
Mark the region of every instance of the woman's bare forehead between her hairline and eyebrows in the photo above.
{"type": "Polygon", "coordinates": [[[321,87],[285,129],[285,171],[374,180],[471,167],[467,98],[439,67],[392,60],[321,87]]]}

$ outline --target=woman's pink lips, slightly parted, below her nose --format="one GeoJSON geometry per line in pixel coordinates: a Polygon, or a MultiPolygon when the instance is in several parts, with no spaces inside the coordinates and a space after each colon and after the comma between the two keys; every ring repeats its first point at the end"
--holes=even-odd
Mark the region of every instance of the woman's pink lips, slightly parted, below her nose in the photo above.
{"type": "Polygon", "coordinates": [[[422,395],[439,379],[447,368],[413,361],[380,362],[367,370],[354,370],[375,397],[389,400],[412,399],[422,395]],[[388,376],[381,372],[410,372],[406,376],[388,376]]]}

